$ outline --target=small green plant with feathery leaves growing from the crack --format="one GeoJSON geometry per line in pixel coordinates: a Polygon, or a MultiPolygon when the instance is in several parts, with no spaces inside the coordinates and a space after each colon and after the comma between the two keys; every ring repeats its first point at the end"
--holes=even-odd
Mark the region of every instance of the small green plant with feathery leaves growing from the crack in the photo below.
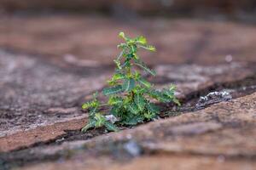
{"type": "Polygon", "coordinates": [[[103,105],[109,106],[109,115],[115,116],[120,125],[136,125],[139,122],[154,119],[160,109],[154,105],[153,100],[160,102],[174,102],[179,105],[174,96],[175,86],[169,89],[155,90],[153,85],[142,77],[137,68],[155,76],[155,72],[148,68],[137,54],[139,48],[154,52],[155,48],[148,45],[145,37],[126,37],[124,32],[119,37],[125,40],[118,48],[122,51],[114,59],[116,71],[108,81],[109,88],[104,88],[102,93],[108,96],[108,103],[101,104],[97,99],[98,93],[93,95],[90,102],[82,105],[83,109],[89,109],[89,122],[82,128],[85,132],[91,127],[105,126],[109,131],[118,131],[118,128],[107,120],[106,114],[100,112],[103,105]]]}

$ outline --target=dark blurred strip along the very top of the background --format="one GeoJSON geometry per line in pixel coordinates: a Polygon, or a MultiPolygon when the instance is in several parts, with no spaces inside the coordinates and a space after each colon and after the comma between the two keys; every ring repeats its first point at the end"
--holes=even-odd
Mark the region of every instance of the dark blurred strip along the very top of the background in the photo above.
{"type": "MultiPolygon", "coordinates": [[[[6,12],[62,11],[75,13],[189,15],[224,14],[234,18],[255,13],[254,0],[1,0],[6,12]]],[[[248,15],[250,18],[250,16],[248,15]]],[[[251,16],[253,18],[253,16],[251,16]]]]}

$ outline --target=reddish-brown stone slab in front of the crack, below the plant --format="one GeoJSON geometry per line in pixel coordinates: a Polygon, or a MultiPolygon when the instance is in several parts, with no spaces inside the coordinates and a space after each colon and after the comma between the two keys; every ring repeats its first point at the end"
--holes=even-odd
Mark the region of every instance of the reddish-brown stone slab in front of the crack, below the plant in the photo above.
{"type": "MultiPolygon", "coordinates": [[[[189,169],[253,167],[256,158],[255,101],[254,93],[120,133],[24,150],[26,161],[37,162],[43,157],[49,161],[22,169],[68,169],[71,165],[78,169],[145,169],[149,165],[165,169],[169,165],[167,160],[181,169],[189,165],[193,165],[189,169]],[[136,144],[133,147],[142,150],[136,156],[129,155],[131,149],[125,149],[131,141],[136,144]],[[183,162],[185,158],[188,159],[186,163],[183,162]]],[[[8,155],[5,158],[18,163],[21,152],[13,154],[16,159],[8,155]]]]}

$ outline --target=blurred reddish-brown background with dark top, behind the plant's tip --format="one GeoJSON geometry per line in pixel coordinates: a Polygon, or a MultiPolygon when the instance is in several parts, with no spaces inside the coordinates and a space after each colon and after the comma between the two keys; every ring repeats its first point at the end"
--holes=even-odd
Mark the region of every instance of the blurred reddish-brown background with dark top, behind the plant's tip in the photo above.
{"type": "Polygon", "coordinates": [[[0,48],[56,65],[111,65],[119,31],[149,64],[255,62],[256,0],[0,0],[0,48]]]}

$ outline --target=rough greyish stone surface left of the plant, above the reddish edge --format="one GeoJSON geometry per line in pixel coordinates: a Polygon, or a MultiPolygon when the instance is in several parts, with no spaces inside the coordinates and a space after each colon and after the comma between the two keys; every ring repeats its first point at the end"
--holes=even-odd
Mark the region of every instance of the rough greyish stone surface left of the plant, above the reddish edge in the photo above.
{"type": "Polygon", "coordinates": [[[106,67],[64,69],[40,57],[3,51],[0,65],[0,137],[84,117],[80,109],[84,96],[102,88],[110,73],[106,67]]]}

